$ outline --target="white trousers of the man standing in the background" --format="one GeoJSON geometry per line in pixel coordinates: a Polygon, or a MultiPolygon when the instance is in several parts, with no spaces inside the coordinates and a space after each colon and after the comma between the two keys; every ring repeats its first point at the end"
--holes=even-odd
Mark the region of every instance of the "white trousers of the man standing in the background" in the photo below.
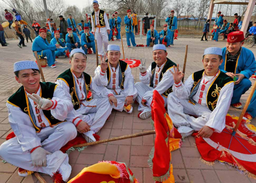
{"type": "Polygon", "coordinates": [[[95,36],[97,40],[98,54],[104,55],[105,53],[107,53],[107,46],[108,46],[107,31],[102,31],[101,33],[95,33],[95,36]],[[103,50],[103,45],[104,45],[104,50],[103,50]]]}

